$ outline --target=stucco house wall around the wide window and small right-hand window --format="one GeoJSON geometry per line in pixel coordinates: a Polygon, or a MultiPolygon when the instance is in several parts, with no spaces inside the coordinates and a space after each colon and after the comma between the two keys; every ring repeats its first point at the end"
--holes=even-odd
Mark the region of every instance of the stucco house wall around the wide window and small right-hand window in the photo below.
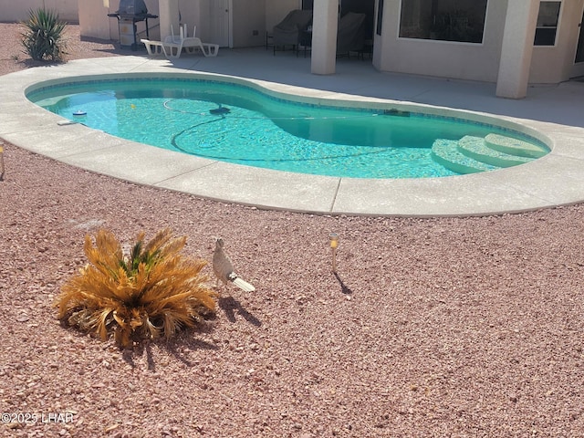
{"type": "MultiPolygon", "coordinates": [[[[489,0],[482,44],[399,37],[401,0],[385,0],[373,64],[383,71],[496,82],[508,0],[489,0]]],[[[557,84],[575,76],[574,56],[584,0],[563,0],[554,47],[533,47],[529,83],[557,84]]]]}

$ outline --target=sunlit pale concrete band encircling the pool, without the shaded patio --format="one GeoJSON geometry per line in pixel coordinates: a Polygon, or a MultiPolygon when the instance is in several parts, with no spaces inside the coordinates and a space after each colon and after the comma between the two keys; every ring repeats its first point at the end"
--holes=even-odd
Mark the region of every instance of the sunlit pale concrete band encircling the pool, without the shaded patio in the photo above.
{"type": "MultiPolygon", "coordinates": [[[[59,162],[132,183],[259,208],[315,214],[464,216],[518,213],[584,201],[584,129],[538,120],[493,116],[402,100],[361,97],[253,78],[216,75],[189,68],[169,70],[166,60],[144,57],[80,59],[30,68],[3,78],[0,88],[0,138],[59,162]],[[90,72],[88,74],[88,72],[90,72]],[[131,73],[230,78],[296,99],[340,99],[355,106],[373,102],[404,105],[415,112],[474,121],[500,120],[518,126],[550,147],[537,161],[471,175],[422,179],[356,179],[309,175],[211,161],[110,136],[37,107],[26,89],[38,82],[70,82],[131,73]],[[538,132],[538,134],[535,134],[538,132]]],[[[163,127],[162,127],[163,129],[163,127]]]]}

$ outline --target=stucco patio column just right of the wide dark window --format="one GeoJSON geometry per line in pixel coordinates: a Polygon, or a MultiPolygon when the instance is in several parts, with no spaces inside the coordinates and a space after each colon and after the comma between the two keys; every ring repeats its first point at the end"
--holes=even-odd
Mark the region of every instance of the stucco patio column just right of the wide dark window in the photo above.
{"type": "Polygon", "coordinates": [[[507,5],[496,79],[496,95],[499,98],[523,99],[527,96],[538,12],[539,0],[510,1],[507,5]]]}

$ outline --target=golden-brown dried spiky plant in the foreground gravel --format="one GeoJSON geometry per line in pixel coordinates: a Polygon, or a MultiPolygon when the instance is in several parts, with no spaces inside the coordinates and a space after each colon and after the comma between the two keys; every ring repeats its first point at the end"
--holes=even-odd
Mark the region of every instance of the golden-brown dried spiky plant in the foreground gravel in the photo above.
{"type": "Polygon", "coordinates": [[[186,236],[170,229],[144,243],[140,233],[129,255],[107,230],[99,230],[95,245],[85,237],[89,263],[71,277],[57,298],[58,318],[71,326],[130,347],[134,339],[169,338],[193,327],[215,308],[214,292],[201,274],[206,261],[181,255],[186,236]]]}

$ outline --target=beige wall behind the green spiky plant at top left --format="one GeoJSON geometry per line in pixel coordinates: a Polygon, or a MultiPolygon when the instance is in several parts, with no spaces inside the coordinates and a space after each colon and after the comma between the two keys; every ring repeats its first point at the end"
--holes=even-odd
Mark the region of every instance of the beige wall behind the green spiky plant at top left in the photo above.
{"type": "Polygon", "coordinates": [[[31,9],[44,8],[57,11],[68,23],[78,23],[78,0],[0,0],[0,21],[26,20],[31,9]]]}

